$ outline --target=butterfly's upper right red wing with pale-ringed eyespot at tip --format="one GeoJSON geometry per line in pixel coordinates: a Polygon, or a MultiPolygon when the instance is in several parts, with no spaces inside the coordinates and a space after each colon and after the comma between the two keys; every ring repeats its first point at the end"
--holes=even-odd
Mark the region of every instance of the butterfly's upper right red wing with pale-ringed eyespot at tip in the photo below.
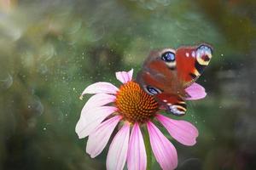
{"type": "Polygon", "coordinates": [[[176,50],[177,77],[188,87],[201,76],[212,58],[212,47],[201,44],[195,47],[181,47],[176,50]]]}

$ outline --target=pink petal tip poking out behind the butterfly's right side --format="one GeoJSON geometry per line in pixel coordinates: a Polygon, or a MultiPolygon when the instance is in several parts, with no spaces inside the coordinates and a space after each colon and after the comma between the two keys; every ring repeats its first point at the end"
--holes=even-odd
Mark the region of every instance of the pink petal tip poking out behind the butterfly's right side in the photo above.
{"type": "Polygon", "coordinates": [[[187,100],[193,99],[203,99],[207,96],[205,88],[203,88],[200,84],[194,82],[185,91],[189,94],[189,98],[187,100]]]}

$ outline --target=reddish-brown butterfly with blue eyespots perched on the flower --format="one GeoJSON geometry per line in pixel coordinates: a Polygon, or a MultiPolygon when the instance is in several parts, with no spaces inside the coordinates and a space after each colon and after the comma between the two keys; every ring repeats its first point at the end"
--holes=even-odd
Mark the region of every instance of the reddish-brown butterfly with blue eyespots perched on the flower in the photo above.
{"type": "Polygon", "coordinates": [[[183,116],[187,111],[184,100],[189,97],[185,88],[201,76],[211,58],[212,47],[207,43],[154,50],[138,72],[137,82],[166,111],[183,116]]]}

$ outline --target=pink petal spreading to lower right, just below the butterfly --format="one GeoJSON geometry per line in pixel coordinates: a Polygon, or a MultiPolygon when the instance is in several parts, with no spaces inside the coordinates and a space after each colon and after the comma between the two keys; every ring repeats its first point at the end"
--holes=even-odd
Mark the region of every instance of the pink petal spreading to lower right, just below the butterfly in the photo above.
{"type": "Polygon", "coordinates": [[[156,118],[166,127],[172,138],[184,145],[194,145],[198,137],[195,126],[186,121],[177,121],[158,114],[156,118]]]}

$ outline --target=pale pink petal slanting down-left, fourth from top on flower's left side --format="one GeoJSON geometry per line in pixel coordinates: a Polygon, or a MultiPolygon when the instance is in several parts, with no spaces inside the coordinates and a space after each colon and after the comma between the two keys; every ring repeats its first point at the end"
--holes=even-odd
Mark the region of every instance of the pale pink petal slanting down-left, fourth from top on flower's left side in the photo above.
{"type": "Polygon", "coordinates": [[[113,133],[113,129],[116,127],[120,119],[121,116],[113,116],[96,127],[96,130],[93,131],[93,133],[90,133],[86,145],[86,152],[90,154],[91,158],[98,156],[108,144],[108,140],[113,133]]]}

